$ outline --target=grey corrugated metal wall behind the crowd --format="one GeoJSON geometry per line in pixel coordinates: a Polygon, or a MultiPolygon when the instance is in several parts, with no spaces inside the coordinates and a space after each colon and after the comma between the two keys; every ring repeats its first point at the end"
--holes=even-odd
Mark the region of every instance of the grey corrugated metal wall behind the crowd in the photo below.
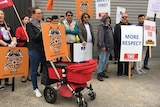
{"type": "MultiPolygon", "coordinates": [[[[48,0],[35,0],[35,5],[39,6],[43,12],[44,12],[44,16],[45,17],[50,17],[52,15],[65,15],[65,12],[70,10],[73,12],[74,14],[74,19],[76,16],[76,0],[54,0],[54,6],[53,6],[53,10],[50,11],[46,11],[45,10],[45,6],[47,4],[48,0]]],[[[115,23],[116,23],[116,9],[117,6],[120,7],[124,7],[126,8],[128,14],[129,14],[129,21],[132,24],[137,24],[137,17],[138,14],[146,14],[147,11],[147,6],[148,6],[148,0],[111,0],[111,18],[112,18],[112,26],[114,27],[115,23]]],[[[99,23],[98,19],[95,19],[95,0],[93,0],[93,19],[90,20],[90,23],[93,25],[94,28],[94,33],[96,36],[96,32],[97,32],[97,26],[99,23]]],[[[151,20],[153,20],[153,18],[151,18],[151,20]]],[[[160,19],[156,20],[157,25],[158,25],[158,34],[160,34],[160,19]]],[[[153,52],[152,52],[152,57],[153,58],[160,58],[160,37],[157,35],[157,47],[153,48],[153,52]]],[[[96,52],[96,46],[95,46],[95,57],[97,56],[97,52],[96,52]]]]}

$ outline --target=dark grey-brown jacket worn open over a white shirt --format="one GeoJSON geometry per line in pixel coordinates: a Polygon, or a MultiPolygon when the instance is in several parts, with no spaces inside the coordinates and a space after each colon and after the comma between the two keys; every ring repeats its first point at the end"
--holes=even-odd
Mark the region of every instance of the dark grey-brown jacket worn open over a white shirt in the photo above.
{"type": "MultiPolygon", "coordinates": [[[[90,32],[91,32],[91,36],[92,36],[92,43],[94,45],[95,38],[94,38],[94,33],[93,33],[93,29],[92,29],[91,24],[89,24],[89,27],[90,27],[90,32]]],[[[87,30],[86,30],[83,23],[79,24],[78,32],[79,32],[78,36],[80,38],[80,42],[82,43],[83,41],[87,41],[87,30]]]]}

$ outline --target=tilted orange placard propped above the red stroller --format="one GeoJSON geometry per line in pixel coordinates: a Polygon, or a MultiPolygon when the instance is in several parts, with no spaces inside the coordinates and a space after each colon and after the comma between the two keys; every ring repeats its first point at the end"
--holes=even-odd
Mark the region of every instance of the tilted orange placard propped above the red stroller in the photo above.
{"type": "Polygon", "coordinates": [[[44,23],[42,24],[42,35],[46,60],[68,56],[63,25],[44,23]]]}

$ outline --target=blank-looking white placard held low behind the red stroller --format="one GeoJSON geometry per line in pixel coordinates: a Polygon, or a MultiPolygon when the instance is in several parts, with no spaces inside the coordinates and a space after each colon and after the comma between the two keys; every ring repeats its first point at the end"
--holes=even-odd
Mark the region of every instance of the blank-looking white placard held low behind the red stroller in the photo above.
{"type": "Polygon", "coordinates": [[[92,43],[87,43],[86,46],[83,46],[81,43],[74,43],[73,53],[74,62],[92,59],[92,43]]]}

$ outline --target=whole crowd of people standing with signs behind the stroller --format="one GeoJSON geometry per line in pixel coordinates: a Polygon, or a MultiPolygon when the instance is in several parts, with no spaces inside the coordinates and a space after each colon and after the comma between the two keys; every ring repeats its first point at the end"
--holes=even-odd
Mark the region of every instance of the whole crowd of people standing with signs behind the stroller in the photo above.
{"type": "MultiPolygon", "coordinates": [[[[97,35],[93,33],[93,27],[89,22],[90,15],[83,13],[79,22],[73,19],[73,13],[67,11],[65,16],[53,15],[52,17],[43,18],[42,10],[39,7],[29,8],[27,15],[21,17],[23,26],[17,27],[15,34],[11,29],[10,25],[4,20],[5,14],[3,10],[0,10],[0,45],[10,48],[27,47],[29,52],[29,74],[27,77],[22,76],[21,81],[26,82],[29,80],[32,82],[33,90],[36,97],[41,97],[42,94],[38,88],[37,83],[37,71],[39,65],[41,69],[45,64],[45,53],[42,39],[41,24],[52,23],[62,24],[65,27],[66,41],[67,43],[76,43],[77,35],[79,42],[83,46],[87,43],[92,43],[93,47],[96,44],[98,49],[98,67],[97,67],[97,79],[104,81],[104,78],[109,78],[106,75],[106,67],[109,62],[111,52],[114,50],[115,59],[118,61],[117,64],[117,76],[128,75],[128,62],[120,61],[120,49],[121,49],[121,25],[132,25],[129,22],[128,13],[123,13],[120,23],[116,24],[114,29],[111,27],[111,17],[104,15],[99,25],[97,26],[97,35]],[[7,35],[6,35],[7,34],[7,35]],[[97,39],[97,43],[95,43],[97,39]]],[[[145,15],[138,16],[137,26],[143,26],[145,15]]],[[[141,62],[133,63],[133,67],[138,74],[146,73],[143,68],[148,69],[148,50],[146,47],[143,48],[143,58],[141,62]]],[[[133,77],[133,74],[131,74],[133,77]]],[[[9,79],[6,78],[5,85],[10,86],[9,79]]],[[[0,90],[4,90],[4,86],[1,84],[0,90]]]]}

